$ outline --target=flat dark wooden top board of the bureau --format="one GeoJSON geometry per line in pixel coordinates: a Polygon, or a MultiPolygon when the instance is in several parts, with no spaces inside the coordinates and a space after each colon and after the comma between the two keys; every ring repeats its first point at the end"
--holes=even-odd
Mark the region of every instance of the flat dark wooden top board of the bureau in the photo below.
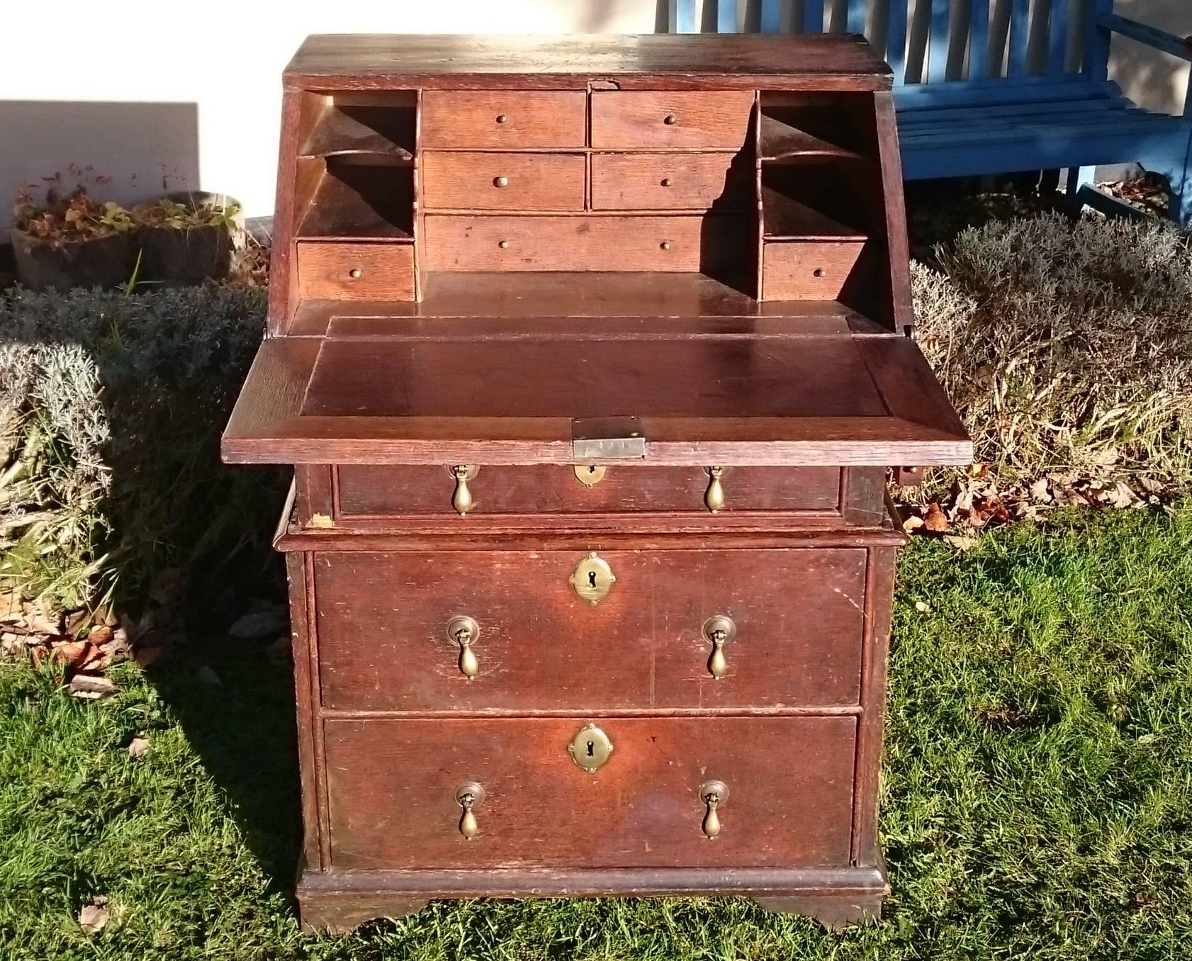
{"type": "Polygon", "coordinates": [[[315,35],[285,72],[297,89],[890,87],[857,35],[315,35]]]}

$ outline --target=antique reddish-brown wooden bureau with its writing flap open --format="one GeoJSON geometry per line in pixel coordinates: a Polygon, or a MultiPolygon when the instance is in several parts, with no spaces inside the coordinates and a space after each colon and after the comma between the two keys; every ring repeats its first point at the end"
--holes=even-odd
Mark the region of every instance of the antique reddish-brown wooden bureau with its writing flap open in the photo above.
{"type": "Polygon", "coordinates": [[[970,457],[889,86],[851,36],[298,51],[223,452],[294,465],[306,924],[877,910],[886,469],[970,457]]]}

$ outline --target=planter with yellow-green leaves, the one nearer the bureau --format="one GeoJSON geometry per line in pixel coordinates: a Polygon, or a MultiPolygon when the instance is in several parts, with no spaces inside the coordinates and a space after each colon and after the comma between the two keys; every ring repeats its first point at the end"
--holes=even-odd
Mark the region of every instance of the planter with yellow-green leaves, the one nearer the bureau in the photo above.
{"type": "Polygon", "coordinates": [[[228,274],[241,232],[240,204],[216,193],[168,193],[134,210],[141,279],[184,286],[228,274]]]}

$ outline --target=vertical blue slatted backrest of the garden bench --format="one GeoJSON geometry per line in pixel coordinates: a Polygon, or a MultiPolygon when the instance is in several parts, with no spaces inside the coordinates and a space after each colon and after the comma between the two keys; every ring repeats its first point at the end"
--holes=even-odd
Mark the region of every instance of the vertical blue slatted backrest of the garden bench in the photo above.
{"type": "MultiPolygon", "coordinates": [[[[749,0],[703,0],[704,11],[708,5],[715,12],[716,31],[721,33],[737,32],[738,2],[749,0]]],[[[777,33],[782,30],[783,0],[753,0],[758,10],[758,30],[762,33],[777,33]]],[[[786,0],[789,6],[791,0],[786,0]]],[[[671,31],[676,33],[694,33],[699,31],[696,21],[696,0],[670,0],[671,31]]],[[[827,31],[850,33],[868,32],[870,39],[884,38],[886,60],[894,70],[895,83],[940,83],[950,80],[968,80],[974,82],[997,81],[1000,76],[1020,78],[1030,73],[1044,72],[1058,75],[1068,73],[1068,35],[1073,18],[1082,16],[1084,33],[1079,38],[1081,46],[1081,72],[1092,79],[1105,78],[1109,60],[1109,41],[1104,31],[1093,26],[1097,13],[1111,12],[1113,0],[969,0],[968,5],[958,0],[920,0],[927,4],[925,30],[921,23],[909,23],[909,11],[914,0],[888,0],[882,5],[886,11],[884,30],[876,21],[867,23],[875,6],[874,0],[803,0],[802,17],[793,24],[795,33],[824,33],[827,31]],[[1037,7],[1042,32],[1031,38],[1031,7],[1037,7]],[[952,18],[964,16],[967,8],[968,23],[958,24],[962,32],[954,35],[952,18]],[[1039,12],[1041,11],[1041,12],[1039,12]],[[825,13],[831,23],[825,23],[825,13]],[[1008,27],[1004,37],[1002,49],[991,50],[994,37],[991,25],[999,13],[1008,13],[1008,27]],[[963,27],[967,26],[967,30],[963,27]],[[867,30],[868,29],[868,30],[867,30]],[[963,43],[963,49],[952,50],[952,42],[963,43]],[[914,56],[908,56],[909,43],[919,44],[914,56]],[[1038,45],[1038,49],[1035,46],[1038,45]],[[921,56],[919,56],[921,52],[921,56]],[[921,74],[907,76],[907,63],[923,63],[921,74]],[[1002,68],[1005,63],[1005,68],[1002,68]]],[[[795,5],[799,10],[800,5],[795,5]]],[[[920,14],[923,17],[924,14],[920,14]]],[[[704,18],[709,19],[704,12],[704,18]]]]}

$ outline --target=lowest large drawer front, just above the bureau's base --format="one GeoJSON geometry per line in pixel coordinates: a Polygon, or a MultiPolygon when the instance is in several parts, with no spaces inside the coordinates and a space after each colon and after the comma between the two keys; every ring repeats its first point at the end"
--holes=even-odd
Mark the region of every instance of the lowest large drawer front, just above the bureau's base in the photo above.
{"type": "Polygon", "coordinates": [[[341,869],[844,866],[856,719],[328,720],[331,866],[341,869]],[[613,743],[592,774],[567,744],[613,743]],[[701,787],[727,786],[720,833],[701,787]],[[460,786],[478,783],[476,832],[460,786]]]}

